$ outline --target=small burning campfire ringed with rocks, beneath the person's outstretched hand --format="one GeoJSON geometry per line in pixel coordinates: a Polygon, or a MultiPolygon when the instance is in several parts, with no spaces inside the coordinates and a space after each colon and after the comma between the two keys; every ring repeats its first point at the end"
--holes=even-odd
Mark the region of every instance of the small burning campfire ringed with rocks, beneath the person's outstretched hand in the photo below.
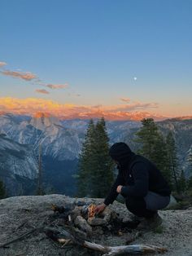
{"type": "Polygon", "coordinates": [[[55,218],[62,219],[64,224],[75,227],[76,231],[83,232],[84,236],[113,235],[121,236],[124,232],[132,232],[133,224],[123,223],[119,214],[106,208],[103,213],[96,214],[97,205],[83,204],[78,202],[72,207],[52,205],[51,209],[55,212],[55,218]]]}

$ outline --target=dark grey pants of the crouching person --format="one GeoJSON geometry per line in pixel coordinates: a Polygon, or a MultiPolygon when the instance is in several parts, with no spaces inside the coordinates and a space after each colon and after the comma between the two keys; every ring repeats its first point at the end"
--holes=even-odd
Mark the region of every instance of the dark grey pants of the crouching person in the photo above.
{"type": "Polygon", "coordinates": [[[151,218],[158,210],[165,208],[170,196],[160,196],[149,191],[145,197],[128,196],[125,198],[127,209],[138,217],[151,218]]]}

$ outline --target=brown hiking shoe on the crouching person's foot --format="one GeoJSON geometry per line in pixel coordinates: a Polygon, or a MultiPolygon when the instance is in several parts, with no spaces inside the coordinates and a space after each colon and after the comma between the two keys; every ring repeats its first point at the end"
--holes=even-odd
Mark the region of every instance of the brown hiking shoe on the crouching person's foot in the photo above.
{"type": "Polygon", "coordinates": [[[159,214],[155,214],[151,218],[144,218],[141,223],[138,224],[138,230],[153,230],[156,227],[159,227],[162,223],[162,218],[159,214]]]}

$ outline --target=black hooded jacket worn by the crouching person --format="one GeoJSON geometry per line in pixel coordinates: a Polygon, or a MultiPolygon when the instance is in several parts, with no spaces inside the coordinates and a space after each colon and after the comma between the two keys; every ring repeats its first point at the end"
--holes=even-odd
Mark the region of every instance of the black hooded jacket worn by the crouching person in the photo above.
{"type": "Polygon", "coordinates": [[[127,144],[113,144],[109,154],[112,159],[118,161],[119,173],[104,201],[105,205],[112,204],[116,199],[116,188],[119,185],[123,186],[121,194],[124,197],[144,197],[148,191],[162,196],[170,195],[168,183],[158,168],[145,157],[133,153],[127,144]]]}

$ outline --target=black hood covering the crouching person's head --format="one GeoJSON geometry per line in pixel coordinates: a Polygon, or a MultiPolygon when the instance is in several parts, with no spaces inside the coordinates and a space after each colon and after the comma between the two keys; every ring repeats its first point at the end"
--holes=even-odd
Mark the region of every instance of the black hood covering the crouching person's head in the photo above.
{"type": "Polygon", "coordinates": [[[111,146],[109,155],[116,161],[124,161],[132,155],[132,151],[129,146],[124,142],[118,142],[111,146]]]}

